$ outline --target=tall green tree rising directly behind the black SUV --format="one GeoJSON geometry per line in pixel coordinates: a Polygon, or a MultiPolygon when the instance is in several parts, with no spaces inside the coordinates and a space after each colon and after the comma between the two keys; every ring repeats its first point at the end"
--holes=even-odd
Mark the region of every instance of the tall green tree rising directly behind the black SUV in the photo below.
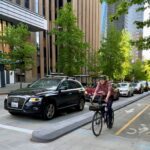
{"type": "Polygon", "coordinates": [[[67,75],[80,74],[86,64],[87,43],[83,32],[77,26],[71,4],[66,4],[58,11],[55,26],[51,34],[56,35],[55,45],[58,48],[57,70],[67,75]]]}

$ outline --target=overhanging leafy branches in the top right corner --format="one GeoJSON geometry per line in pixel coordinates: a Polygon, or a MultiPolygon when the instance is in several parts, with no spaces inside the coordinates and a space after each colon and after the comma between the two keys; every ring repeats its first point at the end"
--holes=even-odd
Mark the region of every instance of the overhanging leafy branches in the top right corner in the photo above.
{"type": "MultiPolygon", "coordinates": [[[[118,0],[101,0],[101,2],[106,1],[108,4],[116,3],[118,0]]],[[[136,11],[144,11],[149,9],[150,0],[120,0],[120,4],[118,5],[115,14],[113,14],[110,19],[111,21],[117,20],[120,15],[128,13],[128,8],[132,5],[139,5],[139,8],[136,11]]],[[[146,21],[135,21],[137,28],[150,27],[150,19],[146,21]]],[[[139,50],[145,50],[150,48],[150,36],[148,37],[140,37],[139,40],[133,41],[133,45],[135,45],[139,50]]]]}

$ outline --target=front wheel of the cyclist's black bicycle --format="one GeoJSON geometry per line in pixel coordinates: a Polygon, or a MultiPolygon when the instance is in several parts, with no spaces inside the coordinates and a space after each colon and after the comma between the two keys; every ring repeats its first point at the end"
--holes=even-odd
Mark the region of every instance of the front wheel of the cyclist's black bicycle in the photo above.
{"type": "Polygon", "coordinates": [[[99,111],[96,111],[92,120],[92,131],[95,136],[99,136],[102,131],[102,115],[99,111]]]}

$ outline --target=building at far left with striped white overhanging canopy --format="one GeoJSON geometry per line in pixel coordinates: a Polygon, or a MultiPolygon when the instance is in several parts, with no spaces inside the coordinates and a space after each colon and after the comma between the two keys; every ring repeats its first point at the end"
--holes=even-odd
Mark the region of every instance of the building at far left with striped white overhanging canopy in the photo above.
{"type": "MultiPolygon", "coordinates": [[[[0,0],[0,34],[3,35],[3,31],[8,25],[25,23],[32,32],[30,37],[31,42],[36,43],[35,34],[36,32],[47,30],[47,20],[42,15],[36,13],[35,10],[36,0],[34,2],[29,0],[0,0]]],[[[0,43],[0,51],[1,53],[9,52],[9,45],[2,41],[0,43]]],[[[0,87],[4,87],[5,84],[13,83],[13,78],[15,78],[13,75],[14,71],[6,70],[1,62],[0,87]]]]}

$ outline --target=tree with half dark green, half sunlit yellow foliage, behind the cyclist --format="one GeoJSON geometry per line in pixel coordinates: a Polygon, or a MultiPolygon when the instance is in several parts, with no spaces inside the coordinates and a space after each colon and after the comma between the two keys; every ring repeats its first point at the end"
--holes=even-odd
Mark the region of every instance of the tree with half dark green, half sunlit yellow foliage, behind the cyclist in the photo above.
{"type": "Polygon", "coordinates": [[[111,27],[99,50],[102,73],[111,79],[124,79],[130,69],[130,50],[128,33],[111,27]]]}

